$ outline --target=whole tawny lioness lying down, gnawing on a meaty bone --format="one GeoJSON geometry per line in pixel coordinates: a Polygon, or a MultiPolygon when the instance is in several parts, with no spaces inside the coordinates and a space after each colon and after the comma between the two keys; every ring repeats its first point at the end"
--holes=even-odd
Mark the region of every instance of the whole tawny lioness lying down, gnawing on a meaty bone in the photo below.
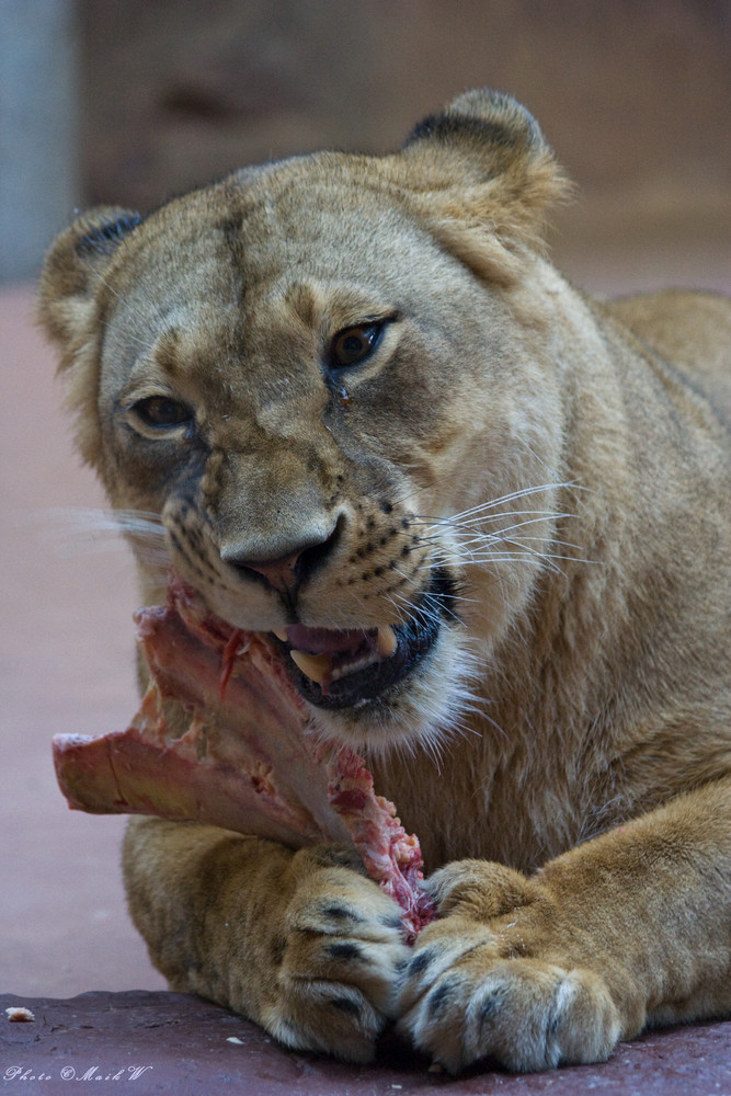
{"type": "Polygon", "coordinates": [[[395,155],[92,210],[46,262],[146,603],[136,514],[212,612],[319,637],[282,655],[312,718],[421,837],[411,949],[344,847],[130,824],[153,962],[290,1047],[366,1061],[395,1020],[530,1071],[731,1009],[731,309],[576,292],[541,246],[564,190],[476,91],[395,155]]]}

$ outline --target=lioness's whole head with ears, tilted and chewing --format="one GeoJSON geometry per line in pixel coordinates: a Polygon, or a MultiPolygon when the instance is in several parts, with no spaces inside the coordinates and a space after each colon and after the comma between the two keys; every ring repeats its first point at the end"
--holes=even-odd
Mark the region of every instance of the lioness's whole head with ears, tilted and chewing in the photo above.
{"type": "Polygon", "coordinates": [[[214,613],[277,637],[341,739],[458,723],[471,655],[560,535],[540,230],[564,190],[530,115],[471,92],[397,153],[99,208],[48,255],[42,320],[113,506],[155,515],[214,613]]]}

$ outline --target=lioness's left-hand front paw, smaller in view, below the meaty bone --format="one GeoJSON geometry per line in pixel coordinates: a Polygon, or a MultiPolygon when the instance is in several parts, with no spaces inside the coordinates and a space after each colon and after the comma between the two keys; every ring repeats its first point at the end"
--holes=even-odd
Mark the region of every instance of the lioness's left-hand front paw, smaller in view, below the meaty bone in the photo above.
{"type": "Polygon", "coordinates": [[[318,864],[309,852],[298,857],[300,879],[284,935],[274,941],[276,991],[262,1023],[298,1050],[368,1061],[393,1016],[399,971],[410,955],[398,907],[350,867],[318,864]]]}

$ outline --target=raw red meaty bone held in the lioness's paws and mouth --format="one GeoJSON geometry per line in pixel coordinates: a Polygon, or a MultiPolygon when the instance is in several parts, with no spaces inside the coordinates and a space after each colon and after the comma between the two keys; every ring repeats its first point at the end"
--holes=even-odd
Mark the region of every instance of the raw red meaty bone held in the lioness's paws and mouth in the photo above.
{"type": "Polygon", "coordinates": [[[194,820],[292,847],[352,842],[399,904],[409,939],[433,920],[415,836],[347,746],[320,740],[267,636],[232,628],[173,576],[168,604],[136,614],[151,681],[126,731],[56,735],[72,808],[194,820]],[[179,733],[165,701],[192,712],[179,733]]]}

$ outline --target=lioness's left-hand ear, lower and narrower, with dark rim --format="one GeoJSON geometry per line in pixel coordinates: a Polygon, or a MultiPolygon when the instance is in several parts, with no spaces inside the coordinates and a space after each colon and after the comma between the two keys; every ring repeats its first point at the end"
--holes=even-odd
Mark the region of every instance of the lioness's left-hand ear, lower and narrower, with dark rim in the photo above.
{"type": "Polygon", "coordinates": [[[90,319],[112,256],[141,219],[132,209],[99,206],[78,217],[48,251],[38,286],[38,319],[62,351],[61,368],[90,319]]]}

